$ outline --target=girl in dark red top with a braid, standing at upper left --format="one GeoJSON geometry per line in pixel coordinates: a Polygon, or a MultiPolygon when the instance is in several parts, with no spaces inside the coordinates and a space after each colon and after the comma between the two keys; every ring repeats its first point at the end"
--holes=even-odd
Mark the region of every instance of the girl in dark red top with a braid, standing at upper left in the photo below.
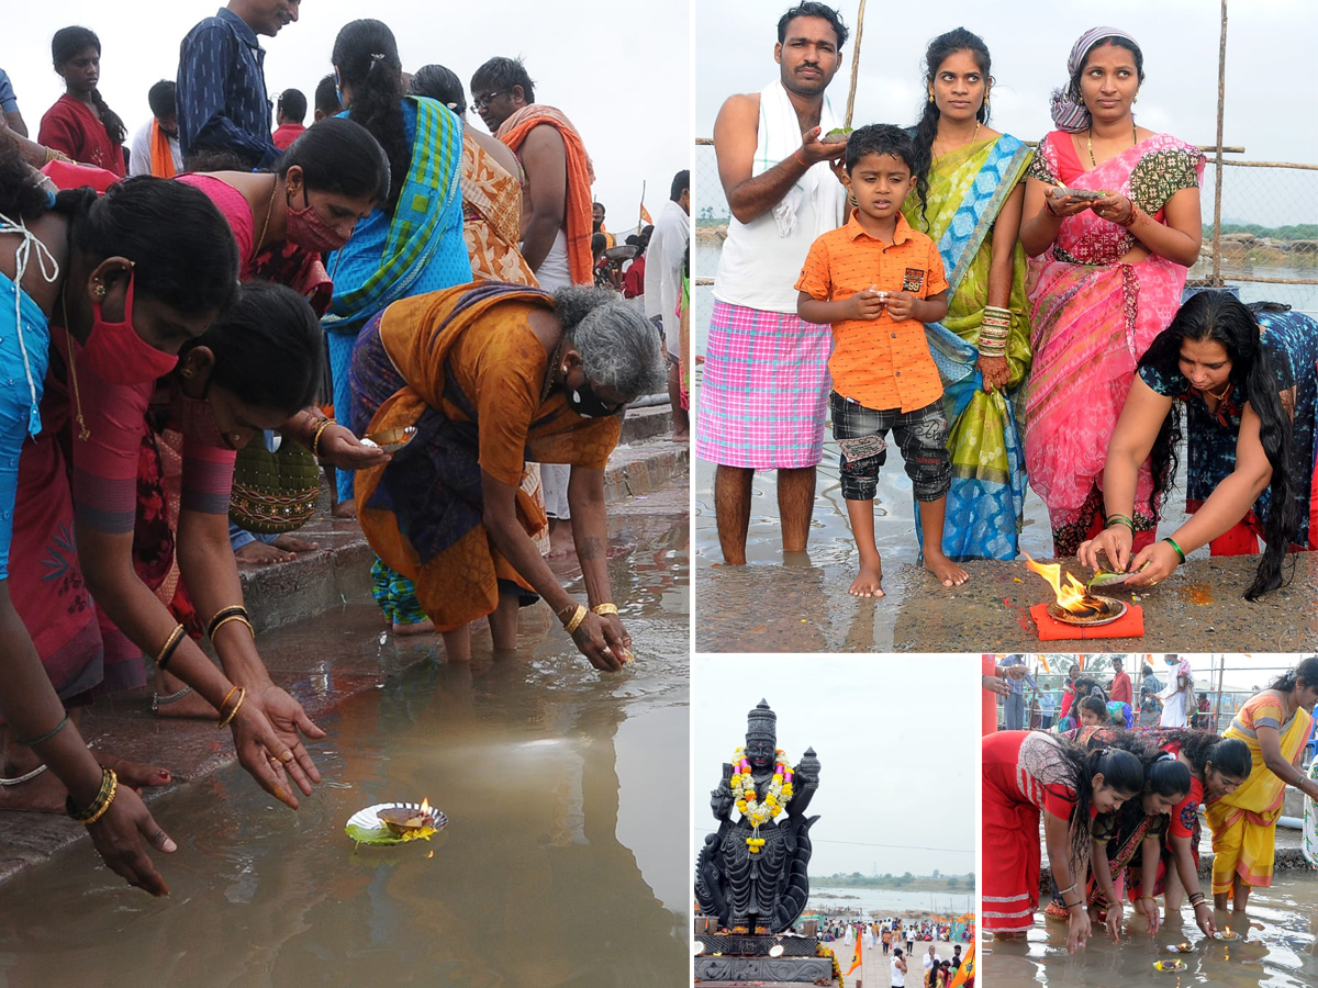
{"type": "Polygon", "coordinates": [[[50,57],[63,76],[66,92],[41,119],[37,141],[123,178],[124,121],[105,105],[96,88],[100,38],[87,28],[61,28],[50,40],[50,57]]]}

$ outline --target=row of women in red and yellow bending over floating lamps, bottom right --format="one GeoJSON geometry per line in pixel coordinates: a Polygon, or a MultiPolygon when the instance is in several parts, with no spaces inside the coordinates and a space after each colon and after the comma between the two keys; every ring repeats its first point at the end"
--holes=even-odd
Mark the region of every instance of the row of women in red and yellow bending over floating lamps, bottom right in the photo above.
{"type": "Polygon", "coordinates": [[[1145,930],[1184,897],[1205,934],[1214,908],[1243,913],[1272,884],[1288,785],[1318,798],[1300,760],[1318,702],[1318,657],[1251,697],[1222,736],[1195,730],[1081,727],[1064,735],[999,731],[983,739],[985,929],[1016,938],[1039,906],[1040,819],[1053,880],[1048,912],[1073,951],[1099,921],[1116,941],[1126,904],[1145,930]],[[1199,809],[1213,835],[1213,898],[1199,887],[1199,809]]]}

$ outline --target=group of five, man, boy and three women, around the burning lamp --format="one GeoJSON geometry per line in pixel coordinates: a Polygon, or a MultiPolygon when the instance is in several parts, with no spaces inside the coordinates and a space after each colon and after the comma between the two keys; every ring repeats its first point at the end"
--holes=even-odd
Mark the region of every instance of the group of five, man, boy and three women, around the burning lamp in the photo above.
{"type": "Polygon", "coordinates": [[[776,470],[784,553],[805,549],[830,420],[853,595],[883,594],[888,432],[946,588],[966,560],[1016,557],[1027,482],[1060,557],[1152,586],[1194,549],[1257,553],[1261,536],[1246,595],[1280,586],[1286,552],[1318,547],[1318,324],[1226,291],[1182,303],[1205,158],[1136,121],[1137,41],[1075,41],[1032,150],[990,126],[1011,69],[963,28],[929,42],[913,126],[838,128],[847,36],[836,9],[792,7],[778,78],[714,124],[731,219],[696,451],[717,465],[724,561],[746,561],[755,470],[776,470]],[[1191,516],[1157,539],[1186,437],[1191,516]]]}

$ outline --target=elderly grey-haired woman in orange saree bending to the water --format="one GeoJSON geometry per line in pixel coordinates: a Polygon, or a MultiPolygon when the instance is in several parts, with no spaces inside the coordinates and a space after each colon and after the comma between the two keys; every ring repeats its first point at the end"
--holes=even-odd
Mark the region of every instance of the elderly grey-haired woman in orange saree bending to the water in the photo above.
{"type": "Polygon", "coordinates": [[[463,285],[370,320],[349,379],[355,431],[397,441],[415,428],[389,464],[357,473],[357,518],[395,570],[377,572],[386,611],[419,607],[449,660],[467,661],[473,620],[513,649],[517,607],[538,594],[592,665],[621,669],[631,639],[609,586],[604,469],[627,402],[664,387],[652,327],[609,291],[463,285]],[[546,519],[519,487],[526,458],[572,466],[585,603],[531,541],[546,519]]]}

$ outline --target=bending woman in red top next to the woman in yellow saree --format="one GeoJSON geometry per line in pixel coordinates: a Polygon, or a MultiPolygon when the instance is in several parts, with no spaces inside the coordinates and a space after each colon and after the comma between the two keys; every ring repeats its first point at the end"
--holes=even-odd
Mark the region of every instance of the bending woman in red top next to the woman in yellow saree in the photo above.
{"type": "MultiPolygon", "coordinates": [[[[1174,916],[1181,912],[1181,897],[1189,893],[1194,922],[1211,935],[1217,930],[1213,904],[1199,888],[1199,804],[1219,800],[1244,784],[1252,767],[1249,746],[1238,738],[1223,739],[1206,731],[1159,731],[1156,738],[1162,751],[1176,755],[1176,760],[1190,769],[1190,792],[1170,813],[1157,879],[1147,894],[1164,893],[1166,914],[1174,916]]],[[[1137,913],[1144,912],[1147,901],[1140,898],[1145,894],[1141,885],[1139,875],[1128,883],[1130,897],[1137,913]]]]}

